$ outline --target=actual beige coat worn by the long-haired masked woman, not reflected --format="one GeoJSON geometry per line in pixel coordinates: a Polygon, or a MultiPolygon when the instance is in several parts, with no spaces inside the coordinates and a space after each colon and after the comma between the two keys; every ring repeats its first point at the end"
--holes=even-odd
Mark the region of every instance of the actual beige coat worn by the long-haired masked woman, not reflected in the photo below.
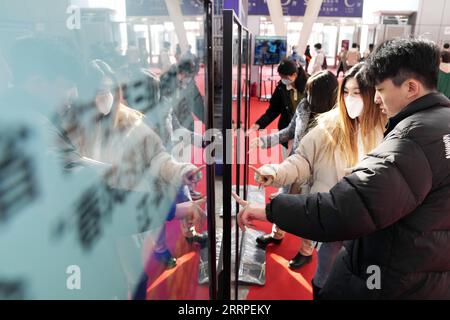
{"type": "MultiPolygon", "coordinates": [[[[329,113],[326,121],[338,121],[338,110],[329,113]]],[[[261,173],[273,178],[272,186],[292,185],[290,193],[328,192],[339,180],[350,173],[343,158],[338,152],[329,156],[324,145],[327,131],[323,124],[318,124],[300,141],[295,154],[281,164],[269,164],[260,168],[261,173]]],[[[383,134],[379,130],[377,144],[383,134]]],[[[358,136],[359,159],[364,156],[361,137],[358,136]]]]}

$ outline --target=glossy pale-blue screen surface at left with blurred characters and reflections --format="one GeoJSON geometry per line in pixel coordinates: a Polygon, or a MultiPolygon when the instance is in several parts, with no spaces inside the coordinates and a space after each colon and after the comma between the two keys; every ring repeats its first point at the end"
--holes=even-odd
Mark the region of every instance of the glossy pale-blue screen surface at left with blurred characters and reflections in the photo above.
{"type": "Polygon", "coordinates": [[[0,299],[208,299],[193,3],[1,2],[0,299]]]}

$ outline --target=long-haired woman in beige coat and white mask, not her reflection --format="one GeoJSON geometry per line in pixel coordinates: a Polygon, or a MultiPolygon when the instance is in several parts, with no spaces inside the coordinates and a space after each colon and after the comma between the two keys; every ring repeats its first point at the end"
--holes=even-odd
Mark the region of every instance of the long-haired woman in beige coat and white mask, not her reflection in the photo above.
{"type": "MultiPolygon", "coordinates": [[[[295,154],[279,165],[264,165],[255,178],[263,185],[301,185],[302,193],[328,192],[351,167],[383,138],[386,117],[374,103],[375,88],[366,86],[353,67],[344,77],[338,107],[319,116],[317,126],[300,141],[295,154]]],[[[323,243],[313,279],[318,298],[328,278],[341,242],[323,243]]]]}

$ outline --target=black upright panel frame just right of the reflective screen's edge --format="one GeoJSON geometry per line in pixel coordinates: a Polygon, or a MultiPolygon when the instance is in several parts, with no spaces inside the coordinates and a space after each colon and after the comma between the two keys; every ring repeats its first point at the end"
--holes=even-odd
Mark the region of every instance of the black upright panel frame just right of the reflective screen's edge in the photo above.
{"type": "MultiPolygon", "coordinates": [[[[237,119],[236,119],[236,129],[243,129],[244,132],[248,128],[249,124],[249,66],[248,61],[249,55],[247,56],[247,65],[246,65],[246,81],[244,83],[244,90],[242,92],[242,34],[243,31],[247,34],[246,41],[247,42],[247,52],[249,53],[248,48],[250,48],[250,32],[244,28],[239,21],[239,19],[236,17],[233,10],[223,10],[223,127],[222,127],[222,134],[225,141],[231,141],[231,139],[234,139],[233,135],[231,134],[232,131],[232,120],[233,120],[233,52],[235,52],[236,48],[234,38],[235,34],[235,26],[237,26],[237,35],[238,35],[238,41],[236,41],[238,45],[238,52],[239,58],[237,61],[237,79],[236,79],[236,86],[237,86],[237,94],[236,94],[236,102],[237,102],[237,119]],[[244,105],[241,104],[242,102],[242,95],[244,95],[244,105]],[[244,117],[241,118],[241,110],[244,109],[244,117]],[[244,120],[244,126],[241,128],[241,119],[244,120]]],[[[241,184],[241,164],[239,164],[240,160],[240,144],[242,141],[240,140],[240,136],[238,135],[237,138],[237,152],[235,159],[232,159],[232,150],[228,150],[227,144],[223,145],[223,236],[222,236],[222,270],[219,275],[219,296],[222,299],[229,300],[231,299],[231,287],[234,285],[234,299],[237,300],[238,297],[238,277],[239,277],[239,228],[237,225],[236,217],[234,218],[234,221],[232,220],[232,201],[231,201],[231,191],[232,191],[232,174],[233,174],[233,166],[235,166],[236,170],[236,193],[240,194],[240,184],[241,184]],[[236,161],[235,164],[233,164],[233,160],[236,161]],[[234,226],[236,232],[235,232],[235,264],[232,265],[232,227],[234,226]],[[234,267],[234,270],[233,270],[234,267]],[[234,275],[234,281],[232,279],[232,275],[234,275]]],[[[247,182],[248,182],[248,138],[246,137],[244,140],[244,152],[245,152],[245,163],[244,163],[244,180],[243,180],[243,187],[244,187],[244,194],[240,195],[243,196],[244,199],[247,198],[247,182]]],[[[239,205],[236,202],[235,203],[235,210],[236,212],[239,211],[239,205]]]]}

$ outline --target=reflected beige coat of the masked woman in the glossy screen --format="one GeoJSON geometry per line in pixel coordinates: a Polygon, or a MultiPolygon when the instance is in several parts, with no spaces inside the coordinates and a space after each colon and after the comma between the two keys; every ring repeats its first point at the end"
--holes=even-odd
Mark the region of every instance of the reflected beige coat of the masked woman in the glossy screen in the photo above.
{"type": "Polygon", "coordinates": [[[140,112],[121,104],[113,130],[106,137],[99,124],[88,123],[90,130],[82,128],[72,141],[76,141],[82,156],[115,168],[107,177],[110,185],[147,191],[153,188],[146,185],[147,181],[156,179],[161,188],[178,188],[182,177],[197,167],[177,162],[167,153],[161,139],[143,122],[143,117],[140,112]]]}

